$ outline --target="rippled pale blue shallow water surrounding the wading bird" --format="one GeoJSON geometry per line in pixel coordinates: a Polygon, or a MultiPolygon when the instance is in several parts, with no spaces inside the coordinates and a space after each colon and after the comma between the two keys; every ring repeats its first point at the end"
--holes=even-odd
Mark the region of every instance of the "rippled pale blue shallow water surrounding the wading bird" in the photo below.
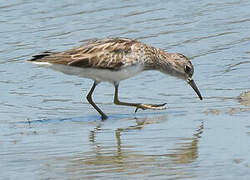
{"type": "Polygon", "coordinates": [[[2,1],[0,179],[249,179],[250,2],[2,1]],[[91,80],[26,63],[92,38],[135,38],[192,59],[204,100],[180,80],[145,72],[85,96],[91,80]]]}

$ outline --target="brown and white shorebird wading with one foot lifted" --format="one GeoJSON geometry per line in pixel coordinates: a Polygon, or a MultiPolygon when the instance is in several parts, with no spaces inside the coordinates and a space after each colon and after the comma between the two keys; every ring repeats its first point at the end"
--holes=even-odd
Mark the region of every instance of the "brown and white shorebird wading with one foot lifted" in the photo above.
{"type": "Polygon", "coordinates": [[[114,103],[134,106],[138,109],[165,109],[163,104],[122,102],[118,98],[118,87],[122,80],[146,70],[157,70],[164,74],[185,80],[202,100],[201,93],[192,79],[194,67],[190,60],[179,53],[166,53],[137,40],[128,38],[105,38],[91,40],[82,46],[63,52],[45,51],[28,60],[69,75],[77,75],[94,81],[88,95],[88,102],[100,113],[107,115],[93,102],[92,94],[100,82],[110,82],[115,87],[114,103]]]}

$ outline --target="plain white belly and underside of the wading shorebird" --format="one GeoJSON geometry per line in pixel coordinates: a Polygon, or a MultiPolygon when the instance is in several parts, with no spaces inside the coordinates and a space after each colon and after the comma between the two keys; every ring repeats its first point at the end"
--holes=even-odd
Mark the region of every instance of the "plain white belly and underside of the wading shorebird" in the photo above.
{"type": "Polygon", "coordinates": [[[34,63],[41,66],[52,68],[56,71],[60,71],[68,75],[75,75],[84,78],[89,78],[99,82],[107,81],[110,83],[128,79],[143,71],[142,65],[133,65],[123,68],[119,71],[111,71],[108,69],[78,68],[74,66],[66,66],[60,64],[38,63],[38,62],[34,63]]]}

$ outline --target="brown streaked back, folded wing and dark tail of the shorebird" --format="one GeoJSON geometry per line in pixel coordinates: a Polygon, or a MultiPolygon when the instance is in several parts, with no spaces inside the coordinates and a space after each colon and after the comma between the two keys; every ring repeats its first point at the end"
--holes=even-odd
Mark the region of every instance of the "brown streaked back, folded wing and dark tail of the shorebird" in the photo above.
{"type": "Polygon", "coordinates": [[[46,51],[29,61],[115,71],[137,63],[138,50],[143,46],[146,45],[128,38],[105,38],[63,52],[46,51]]]}

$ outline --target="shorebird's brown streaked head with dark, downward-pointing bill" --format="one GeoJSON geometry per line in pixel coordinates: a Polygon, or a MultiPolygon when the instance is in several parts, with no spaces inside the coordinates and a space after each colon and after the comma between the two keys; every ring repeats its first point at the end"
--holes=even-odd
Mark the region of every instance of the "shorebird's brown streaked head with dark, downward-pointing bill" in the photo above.
{"type": "Polygon", "coordinates": [[[165,65],[162,66],[160,71],[185,80],[202,100],[201,93],[192,79],[194,67],[191,61],[179,53],[161,53],[161,55],[165,65]]]}

